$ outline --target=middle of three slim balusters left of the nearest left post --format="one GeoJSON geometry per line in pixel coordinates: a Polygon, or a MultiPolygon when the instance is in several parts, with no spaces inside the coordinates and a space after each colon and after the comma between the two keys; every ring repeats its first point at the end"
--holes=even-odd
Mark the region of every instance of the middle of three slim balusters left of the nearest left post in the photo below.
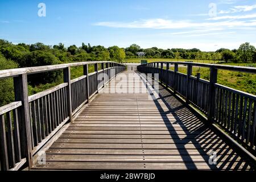
{"type": "Polygon", "coordinates": [[[7,121],[6,122],[7,123],[6,142],[7,142],[9,167],[13,168],[15,166],[15,154],[14,154],[13,122],[11,119],[11,111],[6,113],[6,121],[7,121]]]}

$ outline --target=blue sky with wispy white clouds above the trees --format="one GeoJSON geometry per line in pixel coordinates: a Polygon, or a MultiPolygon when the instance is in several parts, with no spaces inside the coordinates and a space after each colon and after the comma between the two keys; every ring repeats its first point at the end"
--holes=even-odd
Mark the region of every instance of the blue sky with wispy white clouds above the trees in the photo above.
{"type": "Polygon", "coordinates": [[[256,46],[255,30],[256,0],[0,0],[0,39],[13,43],[215,51],[256,46]]]}

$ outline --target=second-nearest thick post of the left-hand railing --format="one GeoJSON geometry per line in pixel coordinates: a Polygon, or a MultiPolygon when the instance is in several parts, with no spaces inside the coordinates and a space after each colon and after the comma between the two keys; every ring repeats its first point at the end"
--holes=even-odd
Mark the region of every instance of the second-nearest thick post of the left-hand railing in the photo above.
{"type": "Polygon", "coordinates": [[[63,78],[64,82],[68,83],[67,86],[67,109],[68,109],[68,117],[69,121],[73,122],[72,118],[72,91],[71,91],[71,72],[70,72],[70,67],[63,69],[63,78]]]}

